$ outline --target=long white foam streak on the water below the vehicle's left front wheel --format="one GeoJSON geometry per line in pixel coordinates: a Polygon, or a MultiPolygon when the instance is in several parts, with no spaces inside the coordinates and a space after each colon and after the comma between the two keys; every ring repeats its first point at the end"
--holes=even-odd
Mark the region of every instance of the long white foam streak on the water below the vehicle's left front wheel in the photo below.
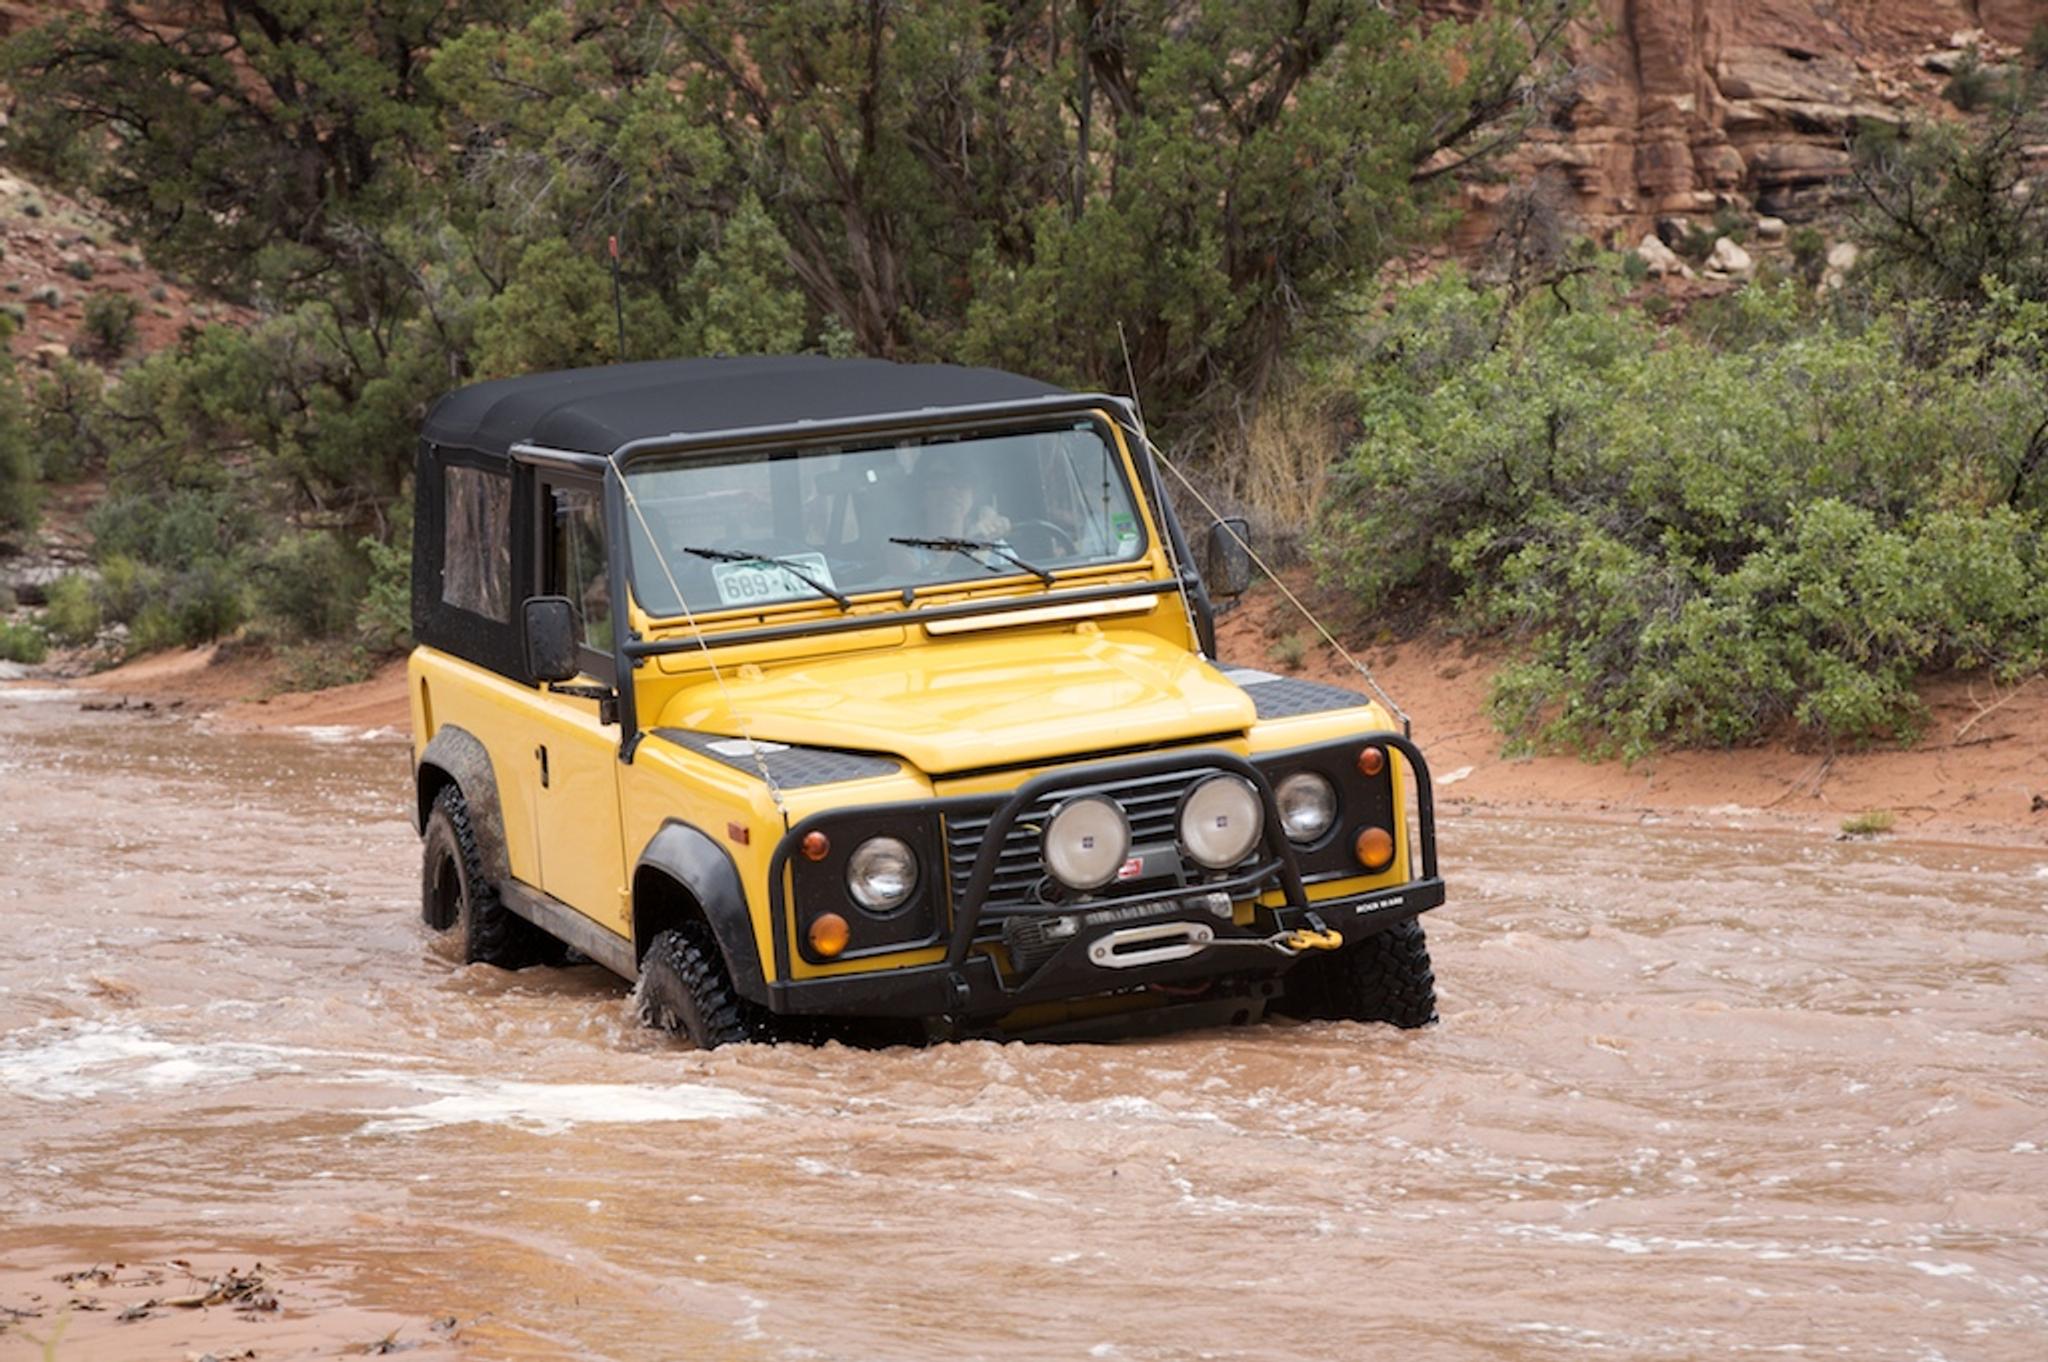
{"type": "Polygon", "coordinates": [[[438,1073],[389,1077],[440,1096],[420,1106],[362,1112],[379,1116],[362,1126],[362,1135],[412,1135],[459,1124],[504,1124],[561,1135],[578,1124],[731,1120],[768,1110],[756,1098],[707,1083],[520,1083],[438,1073]]]}

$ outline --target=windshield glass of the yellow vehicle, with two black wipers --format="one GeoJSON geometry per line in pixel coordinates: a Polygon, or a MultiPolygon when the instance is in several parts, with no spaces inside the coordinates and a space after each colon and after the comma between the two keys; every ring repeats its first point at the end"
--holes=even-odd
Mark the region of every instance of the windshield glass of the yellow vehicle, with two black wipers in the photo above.
{"type": "Polygon", "coordinates": [[[657,619],[682,614],[684,604],[707,614],[1047,580],[1145,553],[1116,446],[1094,420],[637,463],[627,485],[639,512],[627,510],[633,592],[657,619]]]}

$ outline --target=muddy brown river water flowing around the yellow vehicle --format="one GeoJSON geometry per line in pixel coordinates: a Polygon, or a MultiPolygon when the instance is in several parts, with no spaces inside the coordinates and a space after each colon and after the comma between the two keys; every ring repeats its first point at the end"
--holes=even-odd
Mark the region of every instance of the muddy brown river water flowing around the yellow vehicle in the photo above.
{"type": "Polygon", "coordinates": [[[1466,815],[1425,1032],[696,1055],[403,782],[0,688],[0,1362],[2048,1358],[2042,852],[1466,815]],[[170,1260],[283,1309],[63,1315],[170,1260]]]}

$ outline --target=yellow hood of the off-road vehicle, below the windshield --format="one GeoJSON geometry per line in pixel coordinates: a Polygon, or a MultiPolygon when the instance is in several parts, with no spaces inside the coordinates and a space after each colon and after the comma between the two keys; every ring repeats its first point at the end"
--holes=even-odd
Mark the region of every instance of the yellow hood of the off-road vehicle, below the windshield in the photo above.
{"type": "Polygon", "coordinates": [[[928,774],[1139,748],[1251,725],[1251,698],[1143,633],[954,637],[705,680],[657,727],[891,752],[928,774]]]}

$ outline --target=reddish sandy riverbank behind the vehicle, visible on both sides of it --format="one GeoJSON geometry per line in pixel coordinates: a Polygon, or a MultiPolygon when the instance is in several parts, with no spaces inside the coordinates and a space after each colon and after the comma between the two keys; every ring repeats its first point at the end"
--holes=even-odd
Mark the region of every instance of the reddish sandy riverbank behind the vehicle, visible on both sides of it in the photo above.
{"type": "MultiPolygon", "coordinates": [[[[1253,594],[1223,621],[1227,659],[1284,668],[1276,641],[1309,627],[1288,606],[1253,594]]],[[[1581,762],[1569,756],[1503,758],[1487,721],[1497,657],[1442,637],[1358,649],[1415,725],[1430,756],[1438,803],[1606,819],[1802,827],[1833,836],[1843,819],[1888,811],[1894,836],[2048,846],[2048,680],[2001,688],[1982,676],[1929,682],[1931,721],[1913,748],[1819,752],[1788,746],[1677,752],[1649,762],[1581,762]]],[[[1311,647],[1300,676],[1358,684],[1327,647],[1311,647]]],[[[406,668],[393,662],[367,682],[270,694],[274,659],[221,649],[158,653],[66,682],[94,703],[152,700],[205,713],[238,729],[408,731],[406,668]]]]}

